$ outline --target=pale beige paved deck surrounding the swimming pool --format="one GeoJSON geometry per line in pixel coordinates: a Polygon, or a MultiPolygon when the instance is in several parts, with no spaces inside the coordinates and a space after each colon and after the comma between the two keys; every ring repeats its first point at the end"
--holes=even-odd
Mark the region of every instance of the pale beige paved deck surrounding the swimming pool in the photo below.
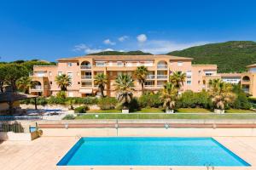
{"type": "MultiPolygon", "coordinates": [[[[216,137],[219,143],[236,153],[252,167],[215,167],[215,170],[256,170],[256,137],[216,137]]],[[[79,139],[75,137],[42,137],[33,141],[5,141],[0,142],[1,170],[207,170],[207,167],[57,167],[67,151],[79,139]]],[[[209,168],[212,169],[212,168],[209,168]]]]}

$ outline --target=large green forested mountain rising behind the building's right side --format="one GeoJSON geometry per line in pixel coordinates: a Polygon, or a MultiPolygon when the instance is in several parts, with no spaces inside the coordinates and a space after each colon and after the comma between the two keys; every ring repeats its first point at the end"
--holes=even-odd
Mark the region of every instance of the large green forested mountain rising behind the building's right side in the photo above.
{"type": "Polygon", "coordinates": [[[192,57],[193,64],[216,64],[218,72],[241,72],[246,71],[247,65],[256,63],[256,42],[209,43],[169,54],[192,57]]]}

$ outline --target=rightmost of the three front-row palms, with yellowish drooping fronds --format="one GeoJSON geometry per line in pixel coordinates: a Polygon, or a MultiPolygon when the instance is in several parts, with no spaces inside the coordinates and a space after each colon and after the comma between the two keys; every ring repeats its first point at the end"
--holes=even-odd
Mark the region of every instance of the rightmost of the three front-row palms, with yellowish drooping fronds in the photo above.
{"type": "Polygon", "coordinates": [[[213,79],[209,81],[209,86],[209,94],[214,109],[224,110],[225,105],[229,105],[236,99],[236,94],[232,92],[233,86],[230,83],[223,82],[220,79],[213,79]]]}

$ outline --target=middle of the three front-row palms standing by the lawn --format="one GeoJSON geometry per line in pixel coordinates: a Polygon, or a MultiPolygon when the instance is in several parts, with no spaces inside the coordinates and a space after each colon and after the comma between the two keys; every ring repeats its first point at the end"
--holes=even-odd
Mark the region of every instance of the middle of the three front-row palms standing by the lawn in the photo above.
{"type": "Polygon", "coordinates": [[[177,88],[171,82],[166,82],[164,88],[160,91],[160,99],[164,102],[166,112],[173,111],[177,101],[177,88]]]}

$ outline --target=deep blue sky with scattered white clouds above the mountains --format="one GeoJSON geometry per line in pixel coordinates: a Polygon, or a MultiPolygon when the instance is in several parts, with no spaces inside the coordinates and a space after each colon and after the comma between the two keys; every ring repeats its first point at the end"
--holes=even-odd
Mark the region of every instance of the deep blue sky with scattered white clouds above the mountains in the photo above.
{"type": "Polygon", "coordinates": [[[256,40],[256,1],[2,0],[0,61],[256,40]]]}

